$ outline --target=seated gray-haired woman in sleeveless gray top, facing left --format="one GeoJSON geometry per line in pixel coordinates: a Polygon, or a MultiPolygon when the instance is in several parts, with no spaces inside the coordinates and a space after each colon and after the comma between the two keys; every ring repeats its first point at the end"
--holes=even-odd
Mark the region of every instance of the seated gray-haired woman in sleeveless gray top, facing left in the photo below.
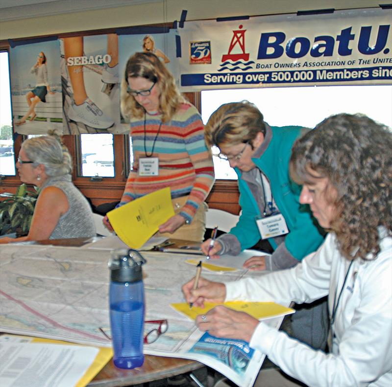
{"type": "Polygon", "coordinates": [[[71,156],[55,136],[25,140],[16,167],[21,181],[38,186],[40,194],[28,235],[0,244],[96,235],[91,207],[71,180],[71,156]]]}

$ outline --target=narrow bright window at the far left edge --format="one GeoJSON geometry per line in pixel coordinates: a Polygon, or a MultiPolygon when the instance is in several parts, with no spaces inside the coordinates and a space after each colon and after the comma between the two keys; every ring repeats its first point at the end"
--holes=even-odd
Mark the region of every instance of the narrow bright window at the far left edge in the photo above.
{"type": "Polygon", "coordinates": [[[0,52],[0,175],[15,175],[8,52],[0,52]]]}

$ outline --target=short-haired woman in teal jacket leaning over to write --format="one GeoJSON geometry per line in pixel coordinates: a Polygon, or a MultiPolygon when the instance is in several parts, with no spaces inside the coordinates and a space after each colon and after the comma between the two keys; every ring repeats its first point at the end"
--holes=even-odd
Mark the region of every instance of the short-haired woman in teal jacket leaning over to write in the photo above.
{"type": "MultiPolygon", "coordinates": [[[[224,104],[211,115],[205,127],[206,142],[218,146],[220,157],[234,167],[242,208],[237,225],[216,240],[210,251],[212,258],[238,255],[256,245],[261,239],[256,220],[275,213],[283,215],[289,233],[268,238],[273,249],[270,260],[254,257],[245,262],[245,267],[285,269],[317,250],[323,232],[309,207],[299,203],[301,187],[289,176],[291,148],[308,130],[296,126],[271,128],[263,114],[247,101],[224,104]]],[[[204,252],[209,243],[203,243],[204,252]]]]}

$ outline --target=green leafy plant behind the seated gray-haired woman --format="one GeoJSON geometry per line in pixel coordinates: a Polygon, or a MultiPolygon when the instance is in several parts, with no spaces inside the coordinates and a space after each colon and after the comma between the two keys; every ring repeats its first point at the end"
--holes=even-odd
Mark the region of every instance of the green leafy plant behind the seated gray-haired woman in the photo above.
{"type": "Polygon", "coordinates": [[[0,202],[0,235],[15,232],[17,236],[24,236],[28,233],[38,194],[37,187],[34,187],[34,192],[28,191],[25,183],[18,187],[15,194],[0,194],[5,198],[0,202]]]}

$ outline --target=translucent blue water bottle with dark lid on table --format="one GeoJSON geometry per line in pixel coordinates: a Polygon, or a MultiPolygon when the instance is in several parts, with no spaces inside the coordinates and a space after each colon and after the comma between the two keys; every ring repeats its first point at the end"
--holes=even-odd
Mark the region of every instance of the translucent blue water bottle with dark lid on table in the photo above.
{"type": "Polygon", "coordinates": [[[144,362],[144,263],[142,255],[132,249],[114,250],[109,260],[110,329],[113,361],[119,368],[140,367],[144,362]]]}

